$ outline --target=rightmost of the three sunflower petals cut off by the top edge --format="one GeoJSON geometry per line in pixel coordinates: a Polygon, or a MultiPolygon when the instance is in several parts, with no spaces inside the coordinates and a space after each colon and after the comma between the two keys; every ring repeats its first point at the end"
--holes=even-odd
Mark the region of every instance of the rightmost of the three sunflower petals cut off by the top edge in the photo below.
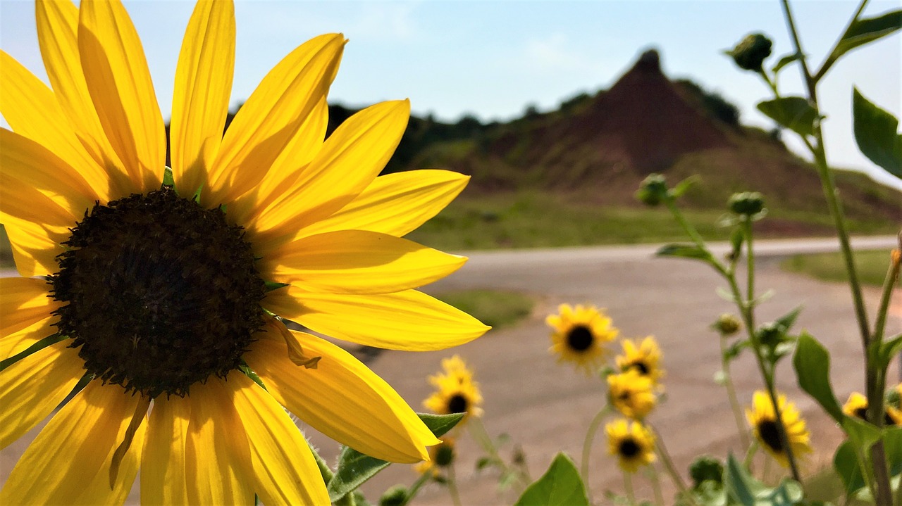
{"type": "Polygon", "coordinates": [[[172,176],[192,195],[207,179],[226,124],[235,70],[235,5],[198,2],[175,71],[170,149],[172,176]]]}

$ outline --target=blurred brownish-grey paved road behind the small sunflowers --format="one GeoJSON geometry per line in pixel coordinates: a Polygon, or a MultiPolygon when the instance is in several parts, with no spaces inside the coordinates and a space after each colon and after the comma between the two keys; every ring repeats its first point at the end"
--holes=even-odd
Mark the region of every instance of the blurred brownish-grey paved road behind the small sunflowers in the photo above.
{"type": "MultiPolygon", "coordinates": [[[[895,238],[856,241],[861,248],[890,248],[895,238]]],[[[759,307],[760,321],[768,321],[805,305],[797,328],[810,331],[824,342],[833,357],[833,386],[844,400],[860,390],[861,345],[845,285],[826,284],[782,273],[778,258],[795,251],[833,250],[834,240],[760,241],[757,285],[759,292],[775,291],[759,307]]],[[[715,250],[726,250],[716,245],[715,250]]],[[[607,309],[623,337],[655,335],[664,350],[667,402],[650,420],[663,434],[680,469],[701,453],[724,456],[738,451],[732,414],[723,389],[713,384],[719,368],[717,338],[708,325],[732,308],[715,289],[723,282],[709,268],[683,259],[653,259],[654,246],[558,248],[492,251],[470,254],[470,261],[454,276],[430,285],[437,293],[462,288],[501,288],[534,295],[534,314],[513,329],[493,330],[481,339],[448,352],[386,352],[375,358],[373,370],[392,384],[415,408],[429,393],[426,376],[439,367],[442,357],[458,353],[476,371],[485,397],[484,425],[493,435],[502,432],[519,443],[534,476],[541,474],[559,450],[578,458],[584,431],[603,402],[603,385],[566,366],[557,366],[548,355],[548,329],[543,320],[558,303],[593,303],[607,309]]],[[[873,314],[879,296],[866,292],[873,314]]],[[[902,300],[893,303],[888,332],[902,331],[902,300]]],[[[741,400],[748,402],[760,382],[750,356],[733,367],[741,400]]],[[[890,377],[897,377],[893,373],[890,377]]],[[[780,369],[779,384],[809,418],[817,453],[805,464],[808,471],[827,465],[828,449],[840,438],[833,424],[820,416],[814,403],[795,386],[790,364],[780,369]]],[[[33,437],[33,436],[32,436],[33,437]]],[[[335,444],[312,434],[326,455],[335,455],[335,444]]],[[[0,483],[12,469],[29,438],[0,452],[0,483]]],[[[458,477],[465,504],[511,503],[511,492],[497,494],[492,474],[472,471],[478,452],[468,438],[460,444],[458,477]]],[[[592,456],[591,488],[596,499],[605,489],[621,490],[620,474],[605,455],[603,435],[596,438],[592,456]]],[[[409,466],[391,466],[364,490],[373,501],[378,491],[392,483],[411,483],[409,466]]],[[[133,494],[132,499],[136,499],[133,494]]],[[[428,487],[416,504],[449,504],[444,490],[428,487]]]]}

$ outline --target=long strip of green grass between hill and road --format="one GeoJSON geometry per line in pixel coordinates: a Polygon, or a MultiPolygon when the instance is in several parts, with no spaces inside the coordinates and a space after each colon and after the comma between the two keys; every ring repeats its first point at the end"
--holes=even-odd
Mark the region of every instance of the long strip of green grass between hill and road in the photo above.
{"type": "MultiPolygon", "coordinates": [[[[719,210],[686,210],[704,239],[726,240],[717,225],[719,210]]],[[[783,234],[832,235],[830,216],[815,212],[772,212],[756,224],[759,237],[783,234]]],[[[894,233],[891,224],[850,224],[856,233],[894,233]]],[[[541,248],[597,244],[635,244],[686,240],[664,208],[586,203],[565,194],[520,192],[491,197],[465,196],[408,236],[445,250],[541,248]]]]}

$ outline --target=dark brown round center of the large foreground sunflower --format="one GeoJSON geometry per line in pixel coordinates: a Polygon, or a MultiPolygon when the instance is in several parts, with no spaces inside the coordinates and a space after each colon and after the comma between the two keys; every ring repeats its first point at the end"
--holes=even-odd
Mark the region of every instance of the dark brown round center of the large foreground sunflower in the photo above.
{"type": "Polygon", "coordinates": [[[170,188],[94,206],[50,276],[60,334],[89,374],[151,398],[225,375],[262,328],[242,227],[170,188]]]}

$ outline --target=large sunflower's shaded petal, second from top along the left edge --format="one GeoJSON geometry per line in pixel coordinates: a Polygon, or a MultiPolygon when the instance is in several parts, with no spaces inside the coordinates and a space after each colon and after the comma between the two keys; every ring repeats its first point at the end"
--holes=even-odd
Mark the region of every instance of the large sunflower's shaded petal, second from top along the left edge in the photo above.
{"type": "MultiPolygon", "coordinates": [[[[47,195],[69,213],[73,225],[97,200],[97,192],[78,171],[41,144],[6,129],[0,129],[0,182],[30,186],[47,195]]],[[[4,198],[18,191],[7,188],[4,198]]]]}

